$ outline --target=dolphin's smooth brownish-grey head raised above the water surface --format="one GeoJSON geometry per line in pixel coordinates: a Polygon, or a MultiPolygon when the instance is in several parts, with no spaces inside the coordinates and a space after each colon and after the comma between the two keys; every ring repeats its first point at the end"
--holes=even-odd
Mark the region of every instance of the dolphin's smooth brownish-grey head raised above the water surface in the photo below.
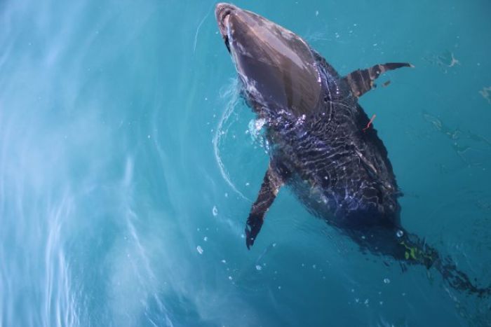
{"type": "Polygon", "coordinates": [[[231,4],[217,4],[215,17],[255,110],[304,114],[316,108],[321,76],[313,51],[300,36],[231,4]]]}

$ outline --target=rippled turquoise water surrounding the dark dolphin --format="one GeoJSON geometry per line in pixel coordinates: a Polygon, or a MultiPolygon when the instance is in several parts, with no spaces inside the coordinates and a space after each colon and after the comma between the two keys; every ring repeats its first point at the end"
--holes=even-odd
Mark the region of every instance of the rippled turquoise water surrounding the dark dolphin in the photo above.
{"type": "MultiPolygon", "coordinates": [[[[405,228],[490,285],[490,1],[236,4],[342,74],[415,65],[361,105],[405,228]]],[[[245,248],[268,158],[213,5],[0,1],[0,326],[490,326],[288,189],[245,248]]]]}

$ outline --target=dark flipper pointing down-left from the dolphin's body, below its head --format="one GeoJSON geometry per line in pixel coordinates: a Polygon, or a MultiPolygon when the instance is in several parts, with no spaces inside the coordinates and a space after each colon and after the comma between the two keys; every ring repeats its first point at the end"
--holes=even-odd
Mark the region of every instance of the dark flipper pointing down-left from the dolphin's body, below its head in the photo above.
{"type": "Polygon", "coordinates": [[[264,179],[262,181],[261,190],[257,195],[257,199],[250,209],[247,223],[245,223],[245,245],[250,249],[253,246],[254,241],[261,230],[262,223],[264,221],[264,215],[268,211],[271,204],[273,204],[278,190],[283,185],[283,179],[279,176],[271,165],[269,165],[264,179]]]}

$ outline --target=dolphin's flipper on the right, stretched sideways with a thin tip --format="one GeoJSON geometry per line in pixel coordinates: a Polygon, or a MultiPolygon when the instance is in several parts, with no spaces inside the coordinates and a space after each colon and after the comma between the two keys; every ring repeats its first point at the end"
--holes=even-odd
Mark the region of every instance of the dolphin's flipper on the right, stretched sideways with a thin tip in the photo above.
{"type": "Polygon", "coordinates": [[[355,95],[356,97],[361,97],[366,92],[376,87],[373,81],[375,81],[377,77],[380,76],[380,74],[401,67],[414,66],[412,66],[412,64],[408,64],[407,62],[389,62],[387,64],[376,64],[375,66],[368,69],[357,69],[356,71],[352,71],[347,76],[344,76],[343,79],[347,81],[349,87],[351,88],[351,92],[353,92],[353,95],[355,95]]]}

